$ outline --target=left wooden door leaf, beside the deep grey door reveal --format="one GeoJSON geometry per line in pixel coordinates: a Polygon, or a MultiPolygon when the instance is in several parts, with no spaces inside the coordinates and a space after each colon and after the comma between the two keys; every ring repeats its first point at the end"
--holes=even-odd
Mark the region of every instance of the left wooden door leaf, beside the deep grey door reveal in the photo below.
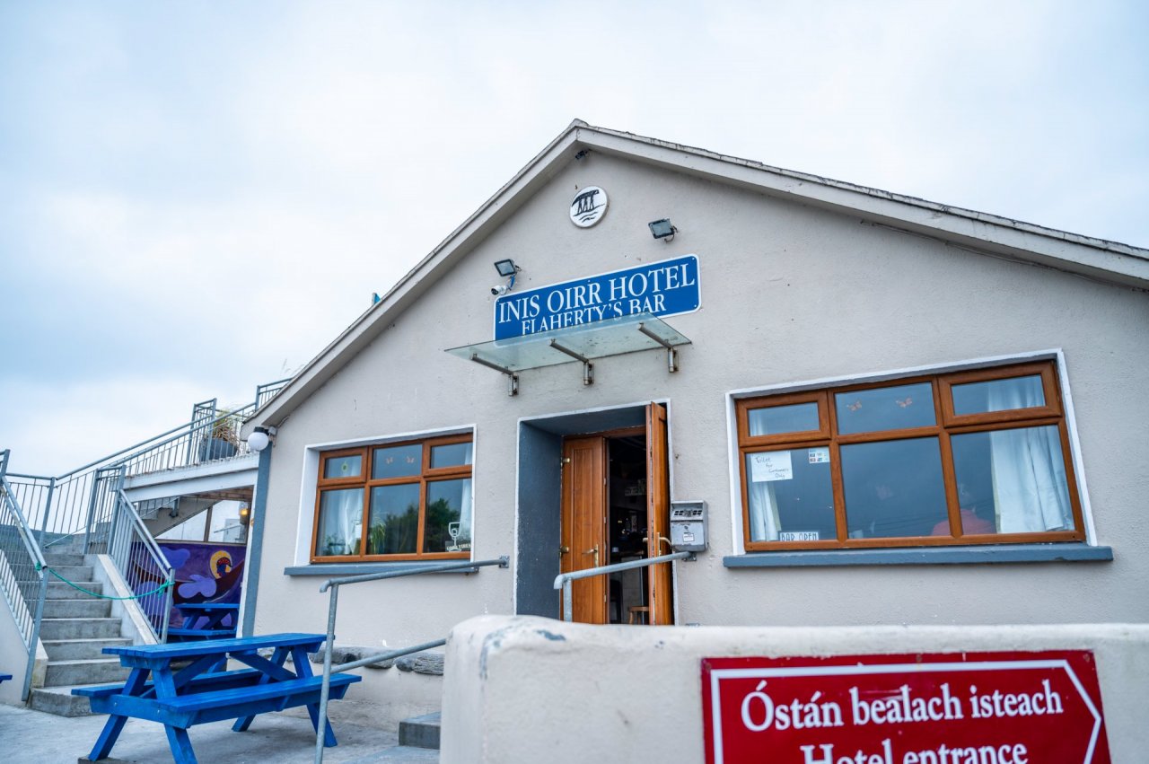
{"type": "MultiPolygon", "coordinates": [[[[607,439],[592,435],[564,440],[562,481],[562,572],[606,565],[610,554],[607,537],[607,439]]],[[[572,581],[571,600],[576,622],[607,623],[606,576],[572,581]]],[[[562,617],[561,599],[558,608],[562,617]]]]}

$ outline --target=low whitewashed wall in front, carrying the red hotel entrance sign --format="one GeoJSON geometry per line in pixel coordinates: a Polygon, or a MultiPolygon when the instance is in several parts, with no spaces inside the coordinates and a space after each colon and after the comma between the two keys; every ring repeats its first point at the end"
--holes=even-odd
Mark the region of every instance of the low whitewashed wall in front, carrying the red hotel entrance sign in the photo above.
{"type": "Polygon", "coordinates": [[[1143,761],[1149,746],[1144,625],[626,628],[492,616],[456,626],[447,648],[442,764],[704,762],[700,661],[739,656],[1093,650],[1112,761],[1143,761]]]}

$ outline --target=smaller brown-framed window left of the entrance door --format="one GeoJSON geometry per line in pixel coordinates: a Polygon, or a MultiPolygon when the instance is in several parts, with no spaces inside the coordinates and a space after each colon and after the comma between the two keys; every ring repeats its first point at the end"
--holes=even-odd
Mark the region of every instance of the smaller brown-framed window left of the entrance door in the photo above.
{"type": "Polygon", "coordinates": [[[311,561],[469,557],[472,460],[470,435],[322,453],[311,561]]]}

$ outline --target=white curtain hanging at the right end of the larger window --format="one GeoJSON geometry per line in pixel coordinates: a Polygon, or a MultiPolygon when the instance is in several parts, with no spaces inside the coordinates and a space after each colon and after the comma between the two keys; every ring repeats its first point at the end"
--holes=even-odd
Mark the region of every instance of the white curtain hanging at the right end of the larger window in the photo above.
{"type": "MultiPolygon", "coordinates": [[[[988,410],[1041,406],[1041,388],[989,386],[988,410]]],[[[1000,430],[989,434],[994,506],[998,533],[1064,531],[1073,527],[1065,460],[1054,425],[1000,430]]]]}

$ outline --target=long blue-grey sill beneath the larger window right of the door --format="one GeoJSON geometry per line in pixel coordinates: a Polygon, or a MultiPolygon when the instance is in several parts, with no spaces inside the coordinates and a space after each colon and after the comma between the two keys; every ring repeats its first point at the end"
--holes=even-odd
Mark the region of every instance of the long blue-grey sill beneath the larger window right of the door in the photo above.
{"type": "Polygon", "coordinates": [[[1004,543],[976,547],[751,551],[723,557],[725,568],[832,568],[836,565],[967,565],[979,563],[1108,562],[1112,547],[1087,543],[1004,543]]]}

